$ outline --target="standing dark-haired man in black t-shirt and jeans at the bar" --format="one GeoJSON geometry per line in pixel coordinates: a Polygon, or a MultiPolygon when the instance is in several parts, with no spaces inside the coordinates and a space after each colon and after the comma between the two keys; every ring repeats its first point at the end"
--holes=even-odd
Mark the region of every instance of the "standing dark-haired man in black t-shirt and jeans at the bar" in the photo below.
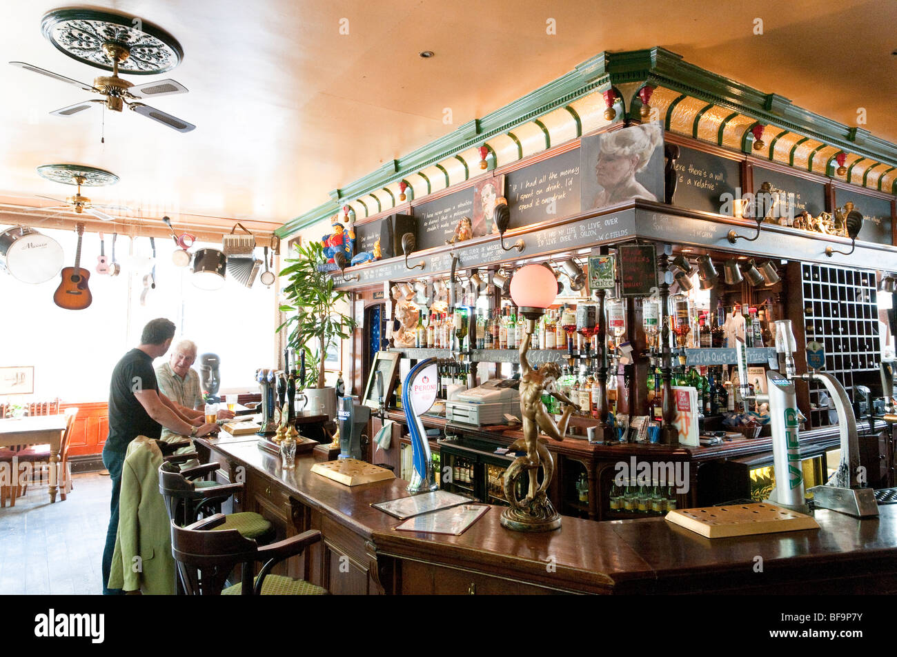
{"type": "Polygon", "coordinates": [[[103,593],[118,594],[109,589],[109,570],[118,533],[118,494],[121,470],[127,445],[138,436],[159,438],[162,427],[185,436],[205,436],[218,430],[205,424],[205,417],[188,419],[178,405],[159,392],[152,360],[164,356],[174,338],[175,325],[160,317],[144,326],[140,344],[118,361],[109,384],[109,437],[103,447],[103,464],[112,479],[112,501],[109,506],[109,530],[103,550],[103,593]]]}

